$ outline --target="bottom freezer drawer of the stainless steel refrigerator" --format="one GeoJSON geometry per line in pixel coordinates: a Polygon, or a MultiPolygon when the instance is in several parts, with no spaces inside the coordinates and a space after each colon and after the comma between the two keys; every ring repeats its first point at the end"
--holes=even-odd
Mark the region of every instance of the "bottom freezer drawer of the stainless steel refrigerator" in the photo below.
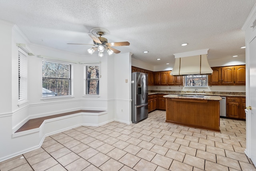
{"type": "Polygon", "coordinates": [[[138,123],[139,121],[148,118],[148,103],[134,105],[133,111],[132,123],[138,123]]]}

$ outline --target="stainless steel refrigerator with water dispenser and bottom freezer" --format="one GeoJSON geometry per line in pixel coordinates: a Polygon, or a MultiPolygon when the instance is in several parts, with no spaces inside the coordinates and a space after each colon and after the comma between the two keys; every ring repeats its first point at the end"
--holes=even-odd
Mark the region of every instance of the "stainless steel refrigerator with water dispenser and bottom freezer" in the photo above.
{"type": "Polygon", "coordinates": [[[148,74],[132,73],[132,123],[148,117],[148,74]]]}

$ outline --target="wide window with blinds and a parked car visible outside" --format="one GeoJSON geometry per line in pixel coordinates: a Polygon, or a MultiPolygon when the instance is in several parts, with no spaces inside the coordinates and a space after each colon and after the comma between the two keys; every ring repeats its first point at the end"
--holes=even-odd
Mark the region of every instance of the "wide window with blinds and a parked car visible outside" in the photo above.
{"type": "Polygon", "coordinates": [[[72,65],[42,62],[42,96],[72,95],[72,65]]]}

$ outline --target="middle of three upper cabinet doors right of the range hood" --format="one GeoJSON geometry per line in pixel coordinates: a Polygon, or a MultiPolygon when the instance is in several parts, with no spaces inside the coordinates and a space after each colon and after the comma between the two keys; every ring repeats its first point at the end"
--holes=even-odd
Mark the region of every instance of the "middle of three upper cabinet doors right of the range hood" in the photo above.
{"type": "Polygon", "coordinates": [[[222,67],[221,72],[221,84],[222,85],[234,85],[234,67],[222,67]]]}

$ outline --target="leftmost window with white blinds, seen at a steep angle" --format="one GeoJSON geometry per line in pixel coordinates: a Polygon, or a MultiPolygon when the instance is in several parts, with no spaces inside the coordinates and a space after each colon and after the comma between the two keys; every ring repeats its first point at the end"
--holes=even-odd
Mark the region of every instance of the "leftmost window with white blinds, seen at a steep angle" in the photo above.
{"type": "Polygon", "coordinates": [[[24,103],[28,99],[27,90],[28,59],[23,50],[18,51],[18,103],[24,103]]]}

